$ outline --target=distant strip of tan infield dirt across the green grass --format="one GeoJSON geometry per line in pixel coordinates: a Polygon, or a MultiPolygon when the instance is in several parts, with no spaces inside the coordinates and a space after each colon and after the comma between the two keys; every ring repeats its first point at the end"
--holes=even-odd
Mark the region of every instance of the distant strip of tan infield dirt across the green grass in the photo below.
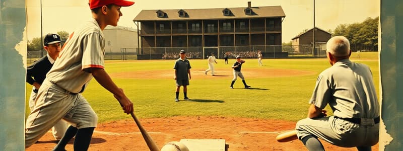
{"type": "MultiPolygon", "coordinates": [[[[215,78],[232,78],[233,70],[231,69],[223,69],[217,68],[215,70],[215,78]]],[[[204,69],[192,69],[191,70],[192,78],[209,78],[205,75],[204,69]]],[[[207,73],[211,75],[211,72],[207,73]]],[[[247,68],[242,69],[242,74],[248,78],[274,78],[274,77],[293,77],[299,75],[311,75],[315,74],[313,71],[308,70],[296,70],[296,69],[253,69],[247,68]]],[[[111,73],[111,77],[113,78],[133,78],[133,79],[172,79],[174,76],[173,69],[165,69],[165,70],[153,70],[153,71],[130,71],[130,72],[118,72],[111,73]]]]}

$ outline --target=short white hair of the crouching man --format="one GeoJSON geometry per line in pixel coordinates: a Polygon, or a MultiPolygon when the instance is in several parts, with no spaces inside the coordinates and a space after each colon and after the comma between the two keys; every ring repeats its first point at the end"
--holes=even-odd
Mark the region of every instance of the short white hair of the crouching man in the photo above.
{"type": "Polygon", "coordinates": [[[344,36],[331,37],[326,43],[326,51],[333,56],[347,56],[350,53],[350,41],[344,36]]]}

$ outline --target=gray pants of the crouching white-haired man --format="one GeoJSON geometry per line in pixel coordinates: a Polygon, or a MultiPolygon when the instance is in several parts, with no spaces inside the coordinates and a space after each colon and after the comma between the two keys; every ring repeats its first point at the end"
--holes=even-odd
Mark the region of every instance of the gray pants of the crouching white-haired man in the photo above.
{"type": "Polygon", "coordinates": [[[297,136],[314,135],[342,147],[372,146],[379,140],[379,123],[356,124],[334,116],[305,118],[297,122],[297,136]]]}

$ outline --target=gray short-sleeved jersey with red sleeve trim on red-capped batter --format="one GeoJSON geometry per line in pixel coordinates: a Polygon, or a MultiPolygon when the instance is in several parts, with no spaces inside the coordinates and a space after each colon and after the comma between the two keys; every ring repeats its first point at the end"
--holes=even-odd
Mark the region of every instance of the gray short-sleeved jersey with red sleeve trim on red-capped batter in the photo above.
{"type": "Polygon", "coordinates": [[[105,39],[97,21],[91,19],[80,29],[70,35],[46,75],[51,83],[72,93],[79,93],[92,79],[84,69],[104,68],[105,39]]]}

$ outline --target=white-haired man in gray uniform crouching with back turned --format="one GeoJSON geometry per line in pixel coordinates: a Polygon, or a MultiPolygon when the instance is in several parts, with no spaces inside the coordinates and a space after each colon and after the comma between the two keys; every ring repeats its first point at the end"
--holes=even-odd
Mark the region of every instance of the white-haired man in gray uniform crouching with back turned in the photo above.
{"type": "Polygon", "coordinates": [[[321,138],[342,147],[371,150],[379,137],[379,103],[368,66],[351,62],[350,42],[335,36],[326,44],[331,67],[319,74],[308,109],[298,121],[297,136],[308,150],[324,150],[321,138]],[[326,105],[333,110],[327,116],[326,105]]]}

